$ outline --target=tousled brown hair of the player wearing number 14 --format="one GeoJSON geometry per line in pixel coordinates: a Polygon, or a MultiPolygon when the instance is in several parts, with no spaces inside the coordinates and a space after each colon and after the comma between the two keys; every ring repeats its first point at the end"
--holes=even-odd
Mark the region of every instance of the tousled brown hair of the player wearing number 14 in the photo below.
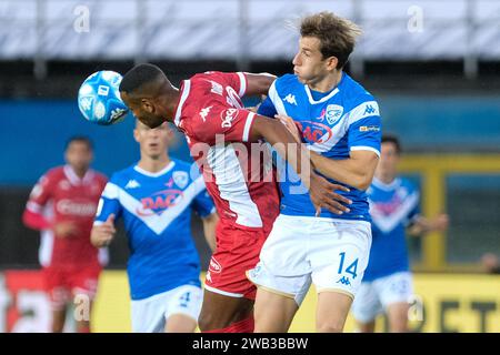
{"type": "Polygon", "coordinates": [[[306,17],[300,23],[300,36],[319,39],[323,59],[336,57],[337,69],[346,65],[361,32],[354,22],[329,11],[306,17]]]}

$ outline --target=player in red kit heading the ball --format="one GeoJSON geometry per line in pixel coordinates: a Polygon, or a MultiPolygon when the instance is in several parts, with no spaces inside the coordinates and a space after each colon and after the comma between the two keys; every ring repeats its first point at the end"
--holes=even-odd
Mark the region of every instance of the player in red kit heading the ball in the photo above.
{"type": "Polygon", "coordinates": [[[348,203],[333,192],[344,187],[312,172],[304,148],[280,121],[243,109],[243,95],[267,94],[274,79],[206,72],[184,80],[178,90],[158,67],[140,64],[120,83],[121,98],[141,122],[156,128],[170,121],[184,133],[216,202],[220,223],[199,318],[202,332],[253,331],[256,287],[244,272],[257,264],[279,214],[279,192],[263,140],[306,180],[318,209],[340,213],[346,211],[340,202],[348,203]]]}

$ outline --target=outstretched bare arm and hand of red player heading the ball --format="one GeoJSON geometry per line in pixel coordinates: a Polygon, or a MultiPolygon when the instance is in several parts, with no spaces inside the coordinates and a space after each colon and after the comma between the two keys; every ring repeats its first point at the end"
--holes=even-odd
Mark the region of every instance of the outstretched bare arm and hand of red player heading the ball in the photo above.
{"type": "Polygon", "coordinates": [[[289,130],[279,121],[262,115],[256,115],[249,134],[250,141],[264,139],[278,153],[287,160],[296,170],[306,187],[309,190],[317,215],[324,207],[332,213],[342,214],[349,212],[344,204],[351,201],[333,192],[336,190],[349,191],[349,189],[332,184],[312,171],[309,152],[306,146],[298,143],[289,130]]]}

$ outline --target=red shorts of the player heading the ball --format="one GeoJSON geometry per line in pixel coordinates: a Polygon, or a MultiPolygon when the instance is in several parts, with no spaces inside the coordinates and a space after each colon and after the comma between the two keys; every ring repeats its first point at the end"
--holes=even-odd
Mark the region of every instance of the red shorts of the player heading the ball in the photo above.
{"type": "Polygon", "coordinates": [[[230,297],[256,300],[257,287],[246,275],[259,262],[259,254],[269,232],[240,230],[219,225],[217,251],[210,260],[204,281],[208,291],[230,297]]]}

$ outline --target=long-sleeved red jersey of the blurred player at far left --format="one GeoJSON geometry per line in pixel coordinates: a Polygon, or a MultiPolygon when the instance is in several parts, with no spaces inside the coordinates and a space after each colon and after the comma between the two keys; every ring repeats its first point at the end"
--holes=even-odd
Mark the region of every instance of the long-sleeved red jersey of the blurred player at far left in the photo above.
{"type": "Polygon", "coordinates": [[[42,229],[39,260],[42,266],[92,265],[103,263],[103,250],[100,252],[90,243],[99,199],[107,178],[89,170],[80,179],[71,166],[59,166],[40,178],[31,191],[24,212],[28,225],[40,219],[47,222],[42,229]],[[78,234],[58,237],[52,225],[58,222],[73,222],[78,234]]]}

